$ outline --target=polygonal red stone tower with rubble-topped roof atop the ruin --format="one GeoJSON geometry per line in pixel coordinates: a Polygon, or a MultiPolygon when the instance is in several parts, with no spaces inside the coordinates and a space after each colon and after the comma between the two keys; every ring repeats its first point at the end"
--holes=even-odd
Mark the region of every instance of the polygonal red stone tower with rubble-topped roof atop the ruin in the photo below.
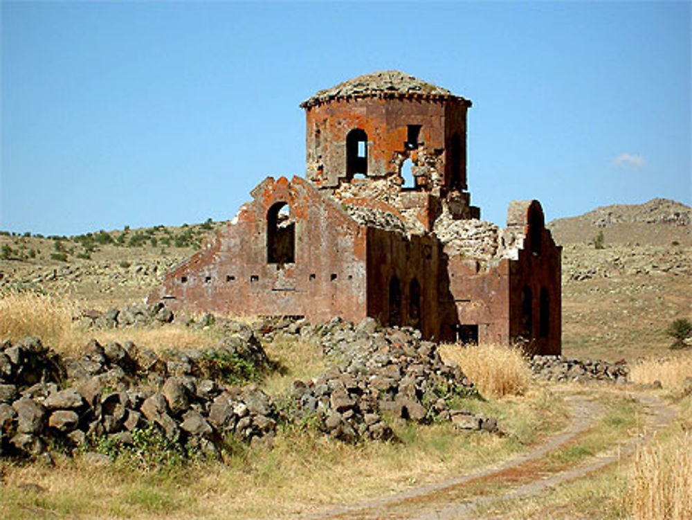
{"type": "Polygon", "coordinates": [[[399,71],[381,71],[318,91],[300,106],[306,176],[318,188],[334,190],[354,179],[387,180],[437,197],[467,188],[470,100],[399,71]]]}

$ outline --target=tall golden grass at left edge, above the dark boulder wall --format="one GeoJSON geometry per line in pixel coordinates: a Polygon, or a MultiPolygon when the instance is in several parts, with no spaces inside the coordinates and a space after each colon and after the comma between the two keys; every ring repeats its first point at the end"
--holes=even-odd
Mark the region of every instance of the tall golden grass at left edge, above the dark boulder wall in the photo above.
{"type": "Polygon", "coordinates": [[[71,337],[75,305],[66,298],[33,292],[0,295],[0,339],[18,341],[37,336],[46,345],[71,337]]]}

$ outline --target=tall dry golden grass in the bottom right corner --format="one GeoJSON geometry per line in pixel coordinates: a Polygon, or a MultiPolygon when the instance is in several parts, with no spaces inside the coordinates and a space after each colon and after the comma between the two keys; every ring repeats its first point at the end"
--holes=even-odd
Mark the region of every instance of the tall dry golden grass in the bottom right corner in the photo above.
{"type": "Polygon", "coordinates": [[[628,499],[637,520],[692,519],[692,433],[637,451],[628,499]]]}

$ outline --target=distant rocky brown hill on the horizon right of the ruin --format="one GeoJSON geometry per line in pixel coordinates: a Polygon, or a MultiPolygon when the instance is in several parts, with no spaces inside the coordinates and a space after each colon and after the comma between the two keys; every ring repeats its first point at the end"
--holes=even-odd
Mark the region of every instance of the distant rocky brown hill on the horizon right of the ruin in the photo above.
{"type": "Polygon", "coordinates": [[[603,232],[605,244],[692,245],[691,208],[670,199],[613,204],[547,224],[558,244],[580,244],[603,232]]]}

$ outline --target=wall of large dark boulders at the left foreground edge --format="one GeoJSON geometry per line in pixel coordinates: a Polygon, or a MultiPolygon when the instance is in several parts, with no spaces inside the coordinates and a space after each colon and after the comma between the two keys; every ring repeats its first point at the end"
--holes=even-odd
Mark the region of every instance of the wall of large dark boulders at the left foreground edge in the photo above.
{"type": "Polygon", "coordinates": [[[179,445],[217,453],[224,436],[271,438],[277,408],[255,385],[217,381],[224,361],[266,364],[246,328],[218,346],[166,357],[131,342],[101,346],[81,357],[60,356],[37,338],[0,346],[0,456],[37,456],[51,442],[72,449],[107,437],[131,445],[137,429],[155,426],[179,445]]]}

